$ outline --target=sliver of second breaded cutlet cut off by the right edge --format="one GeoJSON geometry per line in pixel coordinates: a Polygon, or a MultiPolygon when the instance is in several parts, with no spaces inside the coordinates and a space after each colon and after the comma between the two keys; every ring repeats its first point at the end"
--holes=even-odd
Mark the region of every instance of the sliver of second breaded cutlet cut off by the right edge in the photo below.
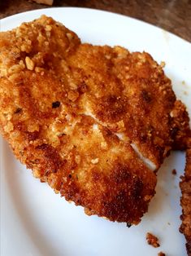
{"type": "Polygon", "coordinates": [[[180,205],[182,206],[182,215],[180,216],[182,224],[180,232],[184,233],[186,239],[187,253],[191,255],[191,137],[188,139],[188,149],[186,151],[186,166],[184,176],[181,177],[180,189],[182,196],[180,205]]]}

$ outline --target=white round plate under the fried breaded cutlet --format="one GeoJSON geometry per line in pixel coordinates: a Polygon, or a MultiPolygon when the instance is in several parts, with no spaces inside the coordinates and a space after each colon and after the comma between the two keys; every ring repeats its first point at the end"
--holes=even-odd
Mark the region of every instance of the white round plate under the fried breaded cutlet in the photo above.
{"type": "MultiPolygon", "coordinates": [[[[181,38],[138,20],[105,11],[82,8],[52,8],[29,11],[1,20],[1,30],[41,14],[52,16],[75,31],[83,42],[120,45],[130,51],[148,51],[165,61],[176,95],[191,113],[191,45],[181,38]]],[[[184,152],[172,152],[158,171],[157,193],[149,212],[136,227],[88,217],[79,206],[69,204],[31,171],[15,160],[1,139],[1,255],[2,256],[153,256],[159,251],[183,256],[180,234],[179,177],[184,170],[184,152]],[[176,168],[178,174],[171,174],[176,168]],[[154,249],[146,232],[158,236],[154,249]]]]}

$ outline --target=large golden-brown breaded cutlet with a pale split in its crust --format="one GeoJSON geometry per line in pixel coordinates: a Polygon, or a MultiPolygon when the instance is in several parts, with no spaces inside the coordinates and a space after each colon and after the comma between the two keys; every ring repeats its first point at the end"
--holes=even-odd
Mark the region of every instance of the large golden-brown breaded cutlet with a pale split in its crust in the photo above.
{"type": "Polygon", "coordinates": [[[189,129],[162,66],[82,44],[45,15],[0,33],[0,49],[0,130],[15,157],[86,214],[139,223],[189,129]]]}

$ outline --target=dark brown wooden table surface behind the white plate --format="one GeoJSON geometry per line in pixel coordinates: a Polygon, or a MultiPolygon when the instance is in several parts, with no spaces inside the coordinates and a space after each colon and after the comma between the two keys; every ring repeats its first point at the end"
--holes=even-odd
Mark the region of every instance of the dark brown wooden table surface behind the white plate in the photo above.
{"type": "MultiPolygon", "coordinates": [[[[190,0],[54,0],[53,7],[88,7],[144,20],[191,42],[190,0]]],[[[50,8],[27,0],[0,0],[0,19],[15,13],[50,8]]]]}

